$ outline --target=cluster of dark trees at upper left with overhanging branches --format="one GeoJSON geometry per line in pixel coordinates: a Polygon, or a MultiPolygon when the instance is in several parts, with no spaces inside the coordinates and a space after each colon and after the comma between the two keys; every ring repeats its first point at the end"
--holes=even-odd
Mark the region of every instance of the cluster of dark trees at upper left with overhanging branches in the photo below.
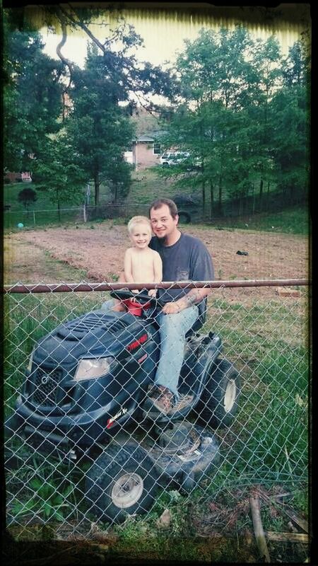
{"type": "MultiPolygon", "coordinates": [[[[90,23],[107,12],[107,8],[91,10],[59,4],[40,9],[47,25],[59,22],[62,37],[57,54],[60,62],[52,62],[42,53],[39,34],[25,29],[21,35],[20,21],[8,9],[8,26],[13,31],[8,34],[7,51],[14,51],[13,47],[16,47],[18,57],[12,57],[12,62],[8,58],[10,81],[6,93],[5,136],[8,155],[5,165],[18,170],[29,169],[30,163],[28,166],[25,163],[34,154],[38,158],[37,174],[40,166],[42,175],[47,175],[47,183],[51,183],[48,171],[44,171],[43,156],[45,151],[49,155],[52,149],[47,150],[45,138],[57,134],[63,127],[66,135],[59,139],[59,143],[67,140],[67,146],[71,148],[70,165],[77,166],[87,180],[93,179],[95,204],[100,200],[101,182],[110,185],[117,199],[127,194],[130,184],[130,166],[123,158],[134,137],[127,112],[129,104],[137,96],[150,107],[149,96],[153,93],[171,93],[170,74],[147,62],[137,64],[129,52],[132,47],[139,47],[142,40],[123,18],[117,20],[105,40],[95,37],[90,23]],[[20,26],[19,31],[17,26],[20,26]],[[64,57],[63,47],[70,29],[82,30],[90,38],[85,69],[79,69],[64,57]],[[69,117],[61,107],[66,93],[73,103],[69,117]],[[120,103],[126,103],[126,109],[120,103]]],[[[59,165],[59,160],[52,158],[53,163],[59,165]]],[[[54,171],[52,178],[57,177],[59,173],[54,171]]],[[[56,198],[60,200],[60,197],[56,198]]]]}

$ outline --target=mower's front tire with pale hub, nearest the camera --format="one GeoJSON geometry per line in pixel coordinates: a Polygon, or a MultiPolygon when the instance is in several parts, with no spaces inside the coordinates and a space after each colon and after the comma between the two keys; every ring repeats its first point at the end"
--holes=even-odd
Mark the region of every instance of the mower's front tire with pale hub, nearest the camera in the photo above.
{"type": "Polygon", "coordinates": [[[100,521],[122,523],[151,509],[160,488],[151,459],[139,446],[110,446],[86,476],[89,509],[100,521]]]}

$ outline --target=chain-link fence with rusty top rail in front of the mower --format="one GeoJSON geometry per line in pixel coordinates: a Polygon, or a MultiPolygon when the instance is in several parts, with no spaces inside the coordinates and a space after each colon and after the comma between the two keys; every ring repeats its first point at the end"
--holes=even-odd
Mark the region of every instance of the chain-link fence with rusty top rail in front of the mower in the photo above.
{"type": "Polygon", "coordinates": [[[238,518],[244,525],[252,485],[277,497],[305,489],[307,282],[165,288],[204,285],[206,320],[184,347],[183,405],[167,415],[146,403],[160,354],[154,304],[102,308],[119,283],[5,287],[8,531],[23,538],[53,525],[57,538],[86,536],[92,524],[121,529],[170,503],[191,505],[202,533],[226,531],[238,518]]]}

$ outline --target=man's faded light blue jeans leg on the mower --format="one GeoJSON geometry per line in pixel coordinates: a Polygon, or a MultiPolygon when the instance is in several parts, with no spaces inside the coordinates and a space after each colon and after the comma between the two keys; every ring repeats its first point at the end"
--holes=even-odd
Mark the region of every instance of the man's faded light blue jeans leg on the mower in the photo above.
{"type": "Polygon", "coordinates": [[[175,400],[179,399],[177,387],[184,358],[184,343],[187,331],[199,316],[196,305],[175,314],[158,313],[160,326],[160,360],[155,374],[155,384],[170,389],[175,400]]]}

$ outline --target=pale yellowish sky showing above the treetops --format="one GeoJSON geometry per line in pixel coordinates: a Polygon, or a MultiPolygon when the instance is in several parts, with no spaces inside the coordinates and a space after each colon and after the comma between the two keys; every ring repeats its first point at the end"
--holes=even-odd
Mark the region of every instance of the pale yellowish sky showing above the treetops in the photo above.
{"type": "MultiPolygon", "coordinates": [[[[195,18],[190,13],[186,16],[179,18],[177,14],[172,13],[169,17],[154,17],[147,16],[140,13],[140,11],[133,11],[126,13],[126,20],[134,25],[136,33],[139,33],[144,40],[144,47],[139,47],[136,52],[136,57],[140,61],[149,61],[152,64],[162,66],[165,61],[174,62],[177,52],[182,52],[184,47],[184,40],[195,40],[201,28],[212,28],[218,30],[220,24],[234,26],[234,21],[216,21],[211,17],[208,18],[195,18]]],[[[281,43],[283,54],[288,53],[288,47],[300,38],[300,33],[304,29],[304,25],[300,22],[293,25],[283,25],[279,28],[276,25],[276,37],[281,43]]],[[[92,25],[91,30],[98,39],[102,39],[107,35],[107,26],[92,25]]],[[[273,24],[259,25],[254,24],[249,27],[254,37],[266,39],[273,33],[273,24]]],[[[55,52],[56,46],[61,38],[60,35],[47,33],[46,28],[42,28],[42,37],[46,43],[45,51],[51,57],[57,57],[55,52]]],[[[62,49],[65,57],[71,59],[79,66],[83,66],[86,57],[86,35],[78,35],[78,33],[71,33],[68,35],[66,45],[62,49]]]]}

